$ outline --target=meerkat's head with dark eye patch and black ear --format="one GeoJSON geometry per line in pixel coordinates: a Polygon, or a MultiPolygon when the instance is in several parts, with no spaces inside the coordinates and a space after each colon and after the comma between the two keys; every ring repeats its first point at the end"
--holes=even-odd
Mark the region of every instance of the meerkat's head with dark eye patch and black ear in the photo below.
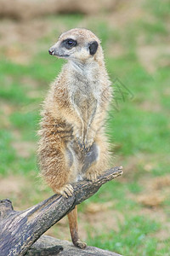
{"type": "Polygon", "coordinates": [[[59,58],[83,63],[95,59],[99,49],[101,49],[99,38],[93,32],[85,28],[74,28],[62,33],[58,42],[48,52],[59,58]]]}

